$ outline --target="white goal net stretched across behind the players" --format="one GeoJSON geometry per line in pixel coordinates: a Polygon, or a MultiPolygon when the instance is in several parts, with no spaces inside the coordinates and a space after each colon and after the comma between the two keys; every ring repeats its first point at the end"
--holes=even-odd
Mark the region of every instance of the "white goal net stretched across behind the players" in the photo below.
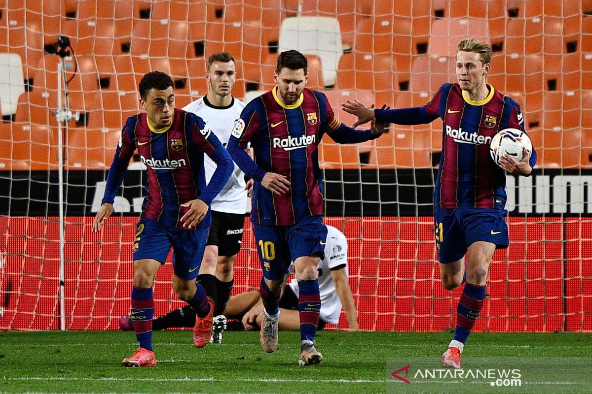
{"type": "MultiPolygon", "coordinates": [[[[493,47],[488,82],[520,104],[539,155],[531,177],[507,177],[511,245],[494,255],[475,330],[592,330],[592,2],[549,0],[0,0],[0,329],[117,329],[128,313],[137,158],[114,216],[101,233],[91,223],[144,73],[169,73],[182,107],[207,93],[207,57],[229,51],[234,96],[248,101],[274,86],[278,53],[297,49],[307,87],[352,124],[347,99],[429,102],[455,82],[468,36],[493,47]]],[[[459,291],[440,284],[434,242],[441,149],[441,121],[319,147],[326,223],[348,238],[362,328],[455,324],[459,291]]],[[[234,294],[261,275],[248,219],[245,229],[234,294]]],[[[171,276],[169,258],[157,315],[183,305],[171,276]]],[[[345,314],[328,327],[347,328],[345,314]]]]}

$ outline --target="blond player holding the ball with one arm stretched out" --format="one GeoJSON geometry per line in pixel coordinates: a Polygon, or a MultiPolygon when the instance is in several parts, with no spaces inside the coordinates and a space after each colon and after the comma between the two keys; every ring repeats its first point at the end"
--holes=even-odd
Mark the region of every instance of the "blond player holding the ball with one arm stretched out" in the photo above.
{"type": "Polygon", "coordinates": [[[416,108],[374,110],[359,101],[348,101],[343,109],[368,121],[399,125],[430,123],[442,118],[442,156],[434,190],[435,232],[442,285],[453,290],[464,284],[456,308],[456,330],[442,365],[461,367],[461,354],[477,320],[487,273],[496,249],[509,246],[504,221],[506,171],[530,175],[536,152],[522,161],[506,155],[500,166],[491,160],[491,138],[500,130],[524,131],[520,106],[486,83],[491,47],[466,38],[456,51],[458,83],[446,83],[427,105],[416,108]],[[465,254],[468,264],[465,270],[465,254]]]}

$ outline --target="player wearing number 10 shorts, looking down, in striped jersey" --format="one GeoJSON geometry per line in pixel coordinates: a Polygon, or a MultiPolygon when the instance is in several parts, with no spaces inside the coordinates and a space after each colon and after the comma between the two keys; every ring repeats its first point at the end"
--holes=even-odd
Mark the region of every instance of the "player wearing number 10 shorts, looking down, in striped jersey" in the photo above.
{"type": "Polygon", "coordinates": [[[314,343],[321,307],[317,265],[327,242],[317,146],[324,133],[346,144],[377,138],[384,129],[375,122],[367,131],[343,125],[323,93],[305,89],[307,74],[303,54],[279,54],[277,86],[247,104],[227,147],[234,162],[255,180],[251,220],[263,271],[261,346],[267,353],[278,346],[280,289],[294,261],[300,289],[300,365],[323,360],[314,343]],[[244,151],[249,143],[255,162],[244,151]]]}

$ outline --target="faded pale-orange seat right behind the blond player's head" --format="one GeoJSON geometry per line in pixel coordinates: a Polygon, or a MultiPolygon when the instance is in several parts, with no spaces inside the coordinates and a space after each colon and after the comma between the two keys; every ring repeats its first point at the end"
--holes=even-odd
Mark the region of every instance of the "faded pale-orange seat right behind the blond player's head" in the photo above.
{"type": "Polygon", "coordinates": [[[489,42],[489,28],[478,18],[436,19],[427,52],[434,55],[455,56],[456,44],[466,37],[489,42]]]}

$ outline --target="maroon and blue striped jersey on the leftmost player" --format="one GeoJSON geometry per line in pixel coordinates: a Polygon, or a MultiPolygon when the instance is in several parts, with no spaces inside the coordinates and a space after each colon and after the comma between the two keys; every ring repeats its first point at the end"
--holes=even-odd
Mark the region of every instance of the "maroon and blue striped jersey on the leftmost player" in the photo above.
{"type": "MultiPolygon", "coordinates": [[[[170,126],[154,129],[147,123],[146,113],[141,113],[128,118],[121,131],[102,203],[113,203],[136,148],[148,173],[141,217],[178,229],[185,228],[181,217],[189,209],[181,204],[200,198],[209,206],[234,168],[224,146],[199,116],[175,109],[170,126]],[[217,164],[207,186],[204,153],[217,164]]],[[[208,211],[194,229],[210,223],[208,211]]]]}

